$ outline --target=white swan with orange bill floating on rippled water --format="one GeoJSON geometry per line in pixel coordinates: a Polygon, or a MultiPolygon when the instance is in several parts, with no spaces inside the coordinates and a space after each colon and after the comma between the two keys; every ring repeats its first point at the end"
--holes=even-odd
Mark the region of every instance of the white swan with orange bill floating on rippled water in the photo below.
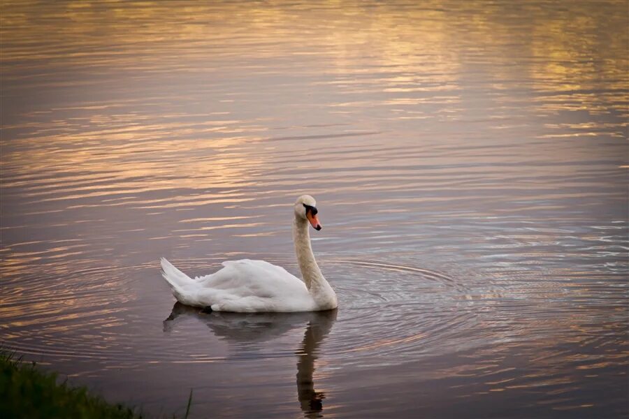
{"type": "Polygon", "coordinates": [[[295,201],[293,241],[303,281],[264,260],[228,260],[222,269],[194,279],[161,258],[162,276],[182,304],[206,311],[296,312],[335,309],[336,294],[321,274],[310,246],[308,223],[321,230],[310,195],[295,201]]]}

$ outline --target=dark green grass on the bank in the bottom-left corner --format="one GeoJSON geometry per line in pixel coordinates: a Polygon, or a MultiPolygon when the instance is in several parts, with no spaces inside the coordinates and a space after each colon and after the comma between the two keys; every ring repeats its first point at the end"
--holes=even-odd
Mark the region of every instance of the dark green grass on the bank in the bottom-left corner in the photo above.
{"type": "MultiPolygon", "coordinates": [[[[143,418],[135,409],[110,404],[85,387],[58,383],[55,373],[39,370],[0,351],[0,418],[143,418]]],[[[189,409],[188,401],[188,409],[189,409]]]]}

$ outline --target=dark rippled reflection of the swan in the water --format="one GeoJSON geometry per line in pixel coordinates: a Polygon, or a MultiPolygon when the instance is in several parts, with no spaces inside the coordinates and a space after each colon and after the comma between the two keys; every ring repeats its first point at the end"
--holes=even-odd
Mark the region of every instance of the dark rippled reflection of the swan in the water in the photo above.
{"type": "Polygon", "coordinates": [[[304,313],[228,313],[204,311],[179,302],[164,321],[164,332],[186,318],[194,317],[205,323],[212,333],[231,344],[251,344],[268,341],[284,335],[289,330],[303,327],[303,339],[297,355],[297,397],[306,418],[320,418],[323,411],[324,392],[315,390],[312,373],[321,341],[325,339],[336,320],[336,309],[304,313]]]}

